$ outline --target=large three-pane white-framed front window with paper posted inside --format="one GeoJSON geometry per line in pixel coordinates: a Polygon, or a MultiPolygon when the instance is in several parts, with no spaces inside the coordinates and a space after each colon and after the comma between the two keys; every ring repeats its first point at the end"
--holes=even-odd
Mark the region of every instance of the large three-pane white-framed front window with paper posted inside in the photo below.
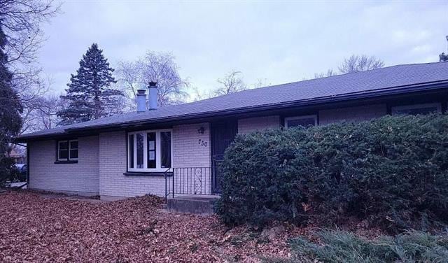
{"type": "Polygon", "coordinates": [[[170,129],[130,132],[127,142],[128,171],[167,171],[172,167],[170,129]]]}

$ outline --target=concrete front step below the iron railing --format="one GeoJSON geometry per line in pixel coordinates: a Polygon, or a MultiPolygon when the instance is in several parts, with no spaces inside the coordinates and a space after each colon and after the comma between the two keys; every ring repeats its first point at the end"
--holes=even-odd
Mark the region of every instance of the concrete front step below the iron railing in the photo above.
{"type": "Polygon", "coordinates": [[[167,209],[176,213],[193,213],[200,215],[211,215],[214,213],[214,201],[219,199],[219,195],[185,195],[169,197],[167,199],[167,209]]]}

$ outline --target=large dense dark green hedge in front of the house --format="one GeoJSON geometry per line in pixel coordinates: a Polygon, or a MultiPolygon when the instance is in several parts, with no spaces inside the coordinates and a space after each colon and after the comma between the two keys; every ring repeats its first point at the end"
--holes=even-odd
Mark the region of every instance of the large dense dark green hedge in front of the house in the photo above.
{"type": "Polygon", "coordinates": [[[216,211],[228,225],[347,218],[395,232],[448,222],[448,116],[239,135],[216,211]]]}

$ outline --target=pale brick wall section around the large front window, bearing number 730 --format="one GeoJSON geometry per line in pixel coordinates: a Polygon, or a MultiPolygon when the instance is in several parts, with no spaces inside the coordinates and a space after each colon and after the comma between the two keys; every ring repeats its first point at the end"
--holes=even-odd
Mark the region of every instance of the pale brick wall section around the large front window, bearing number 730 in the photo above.
{"type": "MultiPolygon", "coordinates": [[[[163,176],[123,175],[127,166],[125,134],[125,131],[117,131],[99,135],[99,194],[102,199],[136,197],[144,194],[165,196],[163,176]]],[[[173,166],[210,166],[209,139],[208,123],[173,127],[173,166]],[[200,127],[205,128],[204,134],[197,132],[200,127]],[[199,139],[207,141],[207,147],[200,145],[199,139]]],[[[203,180],[209,182],[210,178],[204,176],[203,180]]],[[[210,187],[209,183],[204,183],[202,186],[204,191],[210,187]]]]}

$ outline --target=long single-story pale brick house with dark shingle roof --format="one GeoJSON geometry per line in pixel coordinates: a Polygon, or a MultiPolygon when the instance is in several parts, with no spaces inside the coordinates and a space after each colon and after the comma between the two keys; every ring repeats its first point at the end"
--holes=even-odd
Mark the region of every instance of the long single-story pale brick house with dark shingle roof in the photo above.
{"type": "Polygon", "coordinates": [[[28,145],[31,189],[102,199],[214,194],[220,190],[218,164],[236,134],[444,112],[447,95],[447,63],[399,65],[189,104],[152,105],[148,111],[139,107],[136,113],[37,131],[17,141],[28,145]]]}

